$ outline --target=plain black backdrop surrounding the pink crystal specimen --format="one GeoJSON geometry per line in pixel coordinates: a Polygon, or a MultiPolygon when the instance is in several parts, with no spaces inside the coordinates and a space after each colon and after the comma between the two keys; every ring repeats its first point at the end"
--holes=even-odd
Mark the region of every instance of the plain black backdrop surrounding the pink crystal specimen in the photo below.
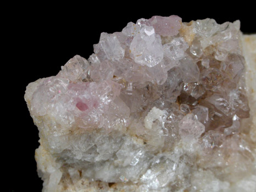
{"type": "Polygon", "coordinates": [[[8,191],[36,192],[42,189],[34,157],[39,145],[38,130],[24,100],[28,83],[56,75],[60,66],[76,54],[87,59],[101,32],[121,31],[129,21],[172,14],[179,15],[185,22],[213,18],[222,23],[239,19],[243,32],[255,33],[256,18],[252,7],[210,1],[200,4],[160,1],[101,4],[95,1],[87,4],[9,5],[2,28],[5,32],[2,41],[7,42],[2,55],[2,108],[5,109],[2,121],[8,121],[3,126],[7,131],[2,134],[3,148],[7,151],[2,158],[7,161],[4,172],[7,173],[8,191]]]}

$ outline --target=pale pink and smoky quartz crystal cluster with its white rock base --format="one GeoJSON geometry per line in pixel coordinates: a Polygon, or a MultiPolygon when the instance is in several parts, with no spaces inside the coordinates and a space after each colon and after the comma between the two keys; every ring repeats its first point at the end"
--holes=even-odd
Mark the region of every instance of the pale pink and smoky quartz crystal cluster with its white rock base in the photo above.
{"type": "Polygon", "coordinates": [[[241,36],[240,21],[139,19],[30,83],[43,191],[256,191],[241,36]]]}

